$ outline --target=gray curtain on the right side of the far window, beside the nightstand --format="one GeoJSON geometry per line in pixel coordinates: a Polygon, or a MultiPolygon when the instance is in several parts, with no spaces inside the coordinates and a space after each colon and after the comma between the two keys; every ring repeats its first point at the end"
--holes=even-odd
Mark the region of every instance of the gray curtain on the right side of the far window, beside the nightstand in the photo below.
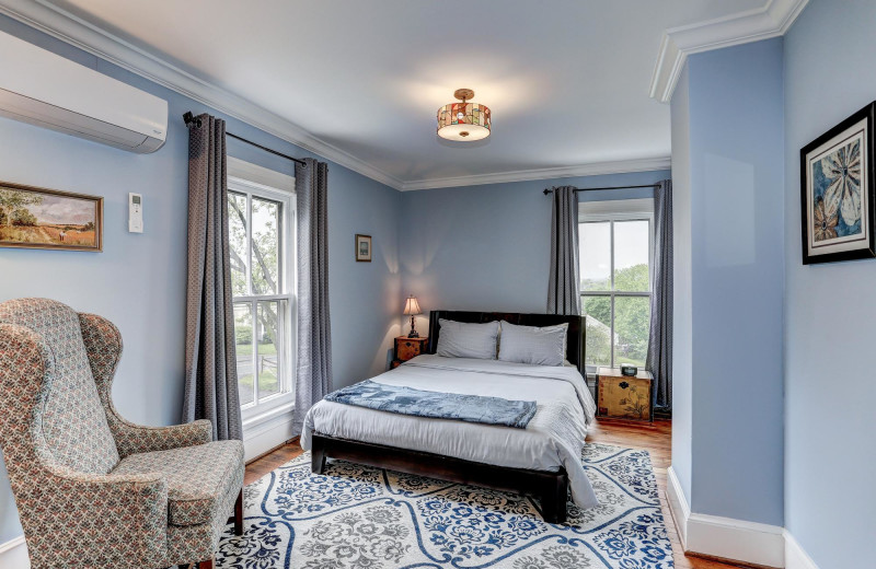
{"type": "Polygon", "coordinates": [[[654,374],[655,407],[672,409],[672,182],[654,190],[654,282],[646,368],[654,374]]]}

